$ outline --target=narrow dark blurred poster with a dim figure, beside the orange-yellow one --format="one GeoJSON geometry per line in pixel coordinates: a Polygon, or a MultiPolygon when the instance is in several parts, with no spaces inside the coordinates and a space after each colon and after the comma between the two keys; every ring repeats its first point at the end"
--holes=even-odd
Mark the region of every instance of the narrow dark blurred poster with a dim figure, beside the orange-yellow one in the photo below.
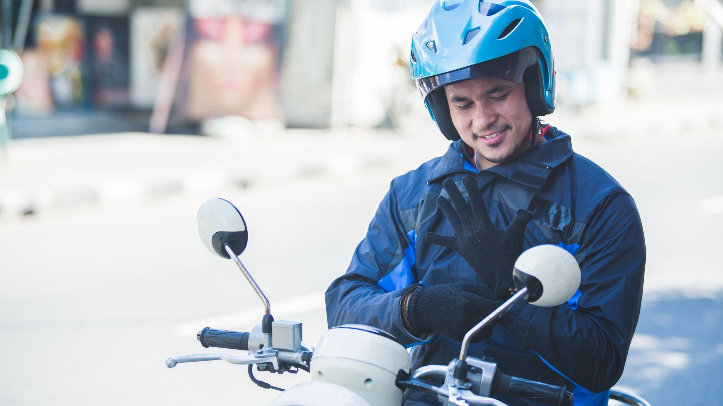
{"type": "Polygon", "coordinates": [[[124,106],[129,102],[128,19],[86,17],[88,71],[93,105],[124,106]]]}

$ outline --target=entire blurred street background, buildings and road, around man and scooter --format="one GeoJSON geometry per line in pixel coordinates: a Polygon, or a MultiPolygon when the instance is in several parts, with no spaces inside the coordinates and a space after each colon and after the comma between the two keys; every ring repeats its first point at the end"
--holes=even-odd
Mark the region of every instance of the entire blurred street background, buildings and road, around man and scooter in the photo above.
{"type": "MultiPolygon", "coordinates": [[[[646,233],[618,386],[723,405],[723,2],[534,3],[556,58],[545,120],[630,192],[646,233]]],[[[25,69],[0,96],[0,405],[273,399],[246,368],[163,364],[217,352],[202,327],[262,315],[197,209],[239,207],[242,261],[316,343],[391,179],[448,146],[408,74],[430,4],[0,0],[0,48],[25,69]]]]}

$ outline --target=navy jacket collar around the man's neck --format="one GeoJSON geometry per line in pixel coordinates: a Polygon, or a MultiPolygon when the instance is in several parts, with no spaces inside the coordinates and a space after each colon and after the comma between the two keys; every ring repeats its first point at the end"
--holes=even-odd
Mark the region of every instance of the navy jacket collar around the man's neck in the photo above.
{"type": "MultiPolygon", "coordinates": [[[[536,189],[542,188],[549,173],[573,155],[573,146],[568,134],[551,127],[546,132],[545,138],[547,138],[546,142],[537,145],[515,160],[495,165],[486,171],[497,173],[516,183],[536,189]]],[[[460,141],[450,144],[445,155],[432,170],[427,183],[443,180],[453,173],[476,173],[476,170],[460,153],[459,144],[460,141]]]]}

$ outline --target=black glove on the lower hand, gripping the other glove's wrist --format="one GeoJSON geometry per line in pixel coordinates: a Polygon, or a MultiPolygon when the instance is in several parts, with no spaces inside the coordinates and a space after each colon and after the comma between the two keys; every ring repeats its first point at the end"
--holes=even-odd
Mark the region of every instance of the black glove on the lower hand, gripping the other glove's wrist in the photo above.
{"type": "MultiPolygon", "coordinates": [[[[461,342],[469,329],[504,303],[488,299],[490,295],[492,290],[481,283],[420,285],[409,294],[406,319],[414,333],[434,332],[461,342]]],[[[475,341],[491,334],[492,328],[484,329],[475,341]]]]}

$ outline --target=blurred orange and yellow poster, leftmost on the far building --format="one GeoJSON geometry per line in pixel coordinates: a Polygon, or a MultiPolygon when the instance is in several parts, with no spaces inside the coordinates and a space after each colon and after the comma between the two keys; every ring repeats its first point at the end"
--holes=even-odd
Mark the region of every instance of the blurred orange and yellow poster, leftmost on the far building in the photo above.
{"type": "Polygon", "coordinates": [[[44,15],[38,20],[36,38],[37,59],[46,59],[38,63],[47,64],[49,69],[54,104],[60,107],[82,104],[85,100],[82,74],[85,34],[80,20],[66,15],[44,15]]]}

